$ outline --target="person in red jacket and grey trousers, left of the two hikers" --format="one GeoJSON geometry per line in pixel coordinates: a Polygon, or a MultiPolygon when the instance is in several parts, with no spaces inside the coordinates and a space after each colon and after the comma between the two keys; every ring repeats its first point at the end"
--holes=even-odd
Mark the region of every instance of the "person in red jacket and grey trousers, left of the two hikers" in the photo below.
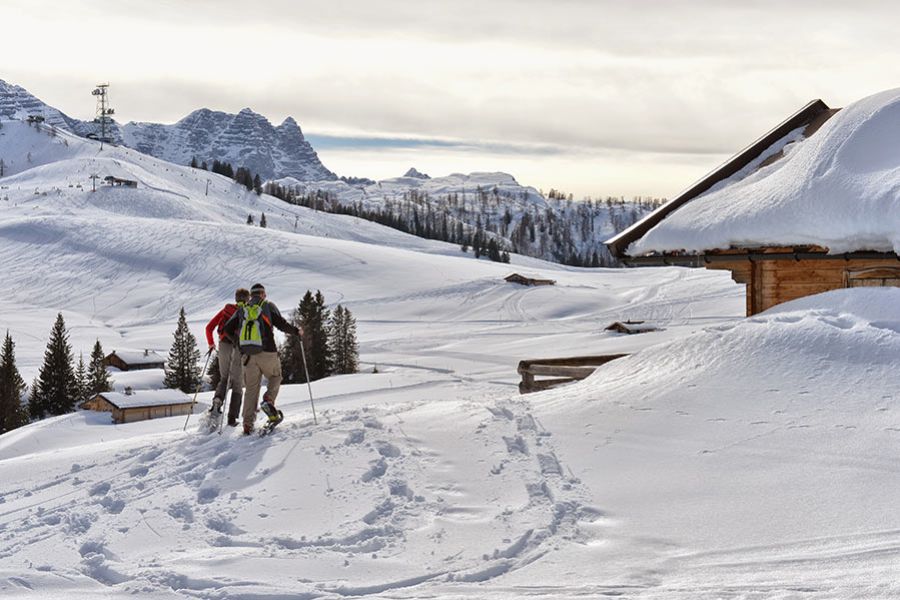
{"type": "Polygon", "coordinates": [[[216,386],[216,393],[213,396],[213,405],[210,412],[222,412],[222,405],[225,403],[225,394],[228,391],[228,384],[231,383],[231,402],[228,404],[228,425],[237,426],[238,416],[241,414],[241,400],[244,393],[244,373],[241,367],[241,353],[238,348],[237,340],[233,336],[225,332],[225,323],[250,301],[250,292],[245,288],[238,288],[234,292],[235,304],[226,304],[225,307],[216,313],[209,323],[206,324],[206,343],[209,344],[210,351],[214,350],[216,345],[213,342],[213,330],[219,338],[219,385],[216,386]]]}

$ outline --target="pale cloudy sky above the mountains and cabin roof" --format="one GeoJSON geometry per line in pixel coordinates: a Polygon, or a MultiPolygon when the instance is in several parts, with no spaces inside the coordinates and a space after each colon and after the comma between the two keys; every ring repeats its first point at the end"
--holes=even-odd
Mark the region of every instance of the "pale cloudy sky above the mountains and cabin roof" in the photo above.
{"type": "Polygon", "coordinates": [[[857,0],[3,0],[0,79],[78,118],[293,116],[327,167],[672,197],[813,98],[900,86],[857,0]]]}

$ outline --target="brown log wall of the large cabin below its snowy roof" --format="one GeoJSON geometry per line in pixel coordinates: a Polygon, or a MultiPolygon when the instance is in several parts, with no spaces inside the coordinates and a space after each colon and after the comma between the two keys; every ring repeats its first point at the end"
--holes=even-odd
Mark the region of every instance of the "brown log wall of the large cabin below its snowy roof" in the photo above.
{"type": "Polygon", "coordinates": [[[900,286],[900,261],[844,258],[822,260],[753,260],[718,262],[737,283],[747,285],[747,316],[773,306],[845,287],[900,286]]]}

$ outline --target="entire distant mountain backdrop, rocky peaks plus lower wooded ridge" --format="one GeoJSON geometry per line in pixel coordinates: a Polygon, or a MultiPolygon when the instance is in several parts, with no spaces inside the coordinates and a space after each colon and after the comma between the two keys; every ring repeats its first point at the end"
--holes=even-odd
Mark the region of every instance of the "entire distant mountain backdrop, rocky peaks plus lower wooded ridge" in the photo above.
{"type": "MultiPolygon", "coordinates": [[[[95,123],[72,119],[0,80],[0,120],[31,115],[81,136],[96,134],[95,123]]],[[[249,169],[251,178],[268,180],[270,193],[319,210],[349,213],[479,250],[479,240],[485,246],[493,240],[502,250],[572,266],[617,266],[602,240],[661,202],[615,197],[575,202],[555,190],[544,197],[512,175],[494,172],[429,178],[411,169],[403,177],[379,182],[364,177],[339,180],[293,118],[273,126],[249,108],[237,115],[200,109],[171,125],[111,122],[110,127],[109,137],[117,144],[181,165],[196,160],[212,168],[218,161],[235,170],[249,169]]]]}

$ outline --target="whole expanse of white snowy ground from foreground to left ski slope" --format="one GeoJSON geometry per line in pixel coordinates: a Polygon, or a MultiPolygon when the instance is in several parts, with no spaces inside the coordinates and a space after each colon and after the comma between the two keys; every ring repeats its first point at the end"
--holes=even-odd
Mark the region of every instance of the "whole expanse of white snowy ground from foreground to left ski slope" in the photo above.
{"type": "Polygon", "coordinates": [[[256,281],[286,313],[307,289],[348,307],[362,361],[312,384],[317,423],[285,386],[265,438],[85,411],[0,436],[0,596],[900,595],[900,290],[745,319],[725,273],[475,260],[21,122],[0,156],[26,381],[58,312],[76,354],[165,354],[182,306],[202,339],[256,281]],[[626,319],[660,330],[605,331],[626,319]],[[623,352],[518,394],[520,359],[623,352]]]}

